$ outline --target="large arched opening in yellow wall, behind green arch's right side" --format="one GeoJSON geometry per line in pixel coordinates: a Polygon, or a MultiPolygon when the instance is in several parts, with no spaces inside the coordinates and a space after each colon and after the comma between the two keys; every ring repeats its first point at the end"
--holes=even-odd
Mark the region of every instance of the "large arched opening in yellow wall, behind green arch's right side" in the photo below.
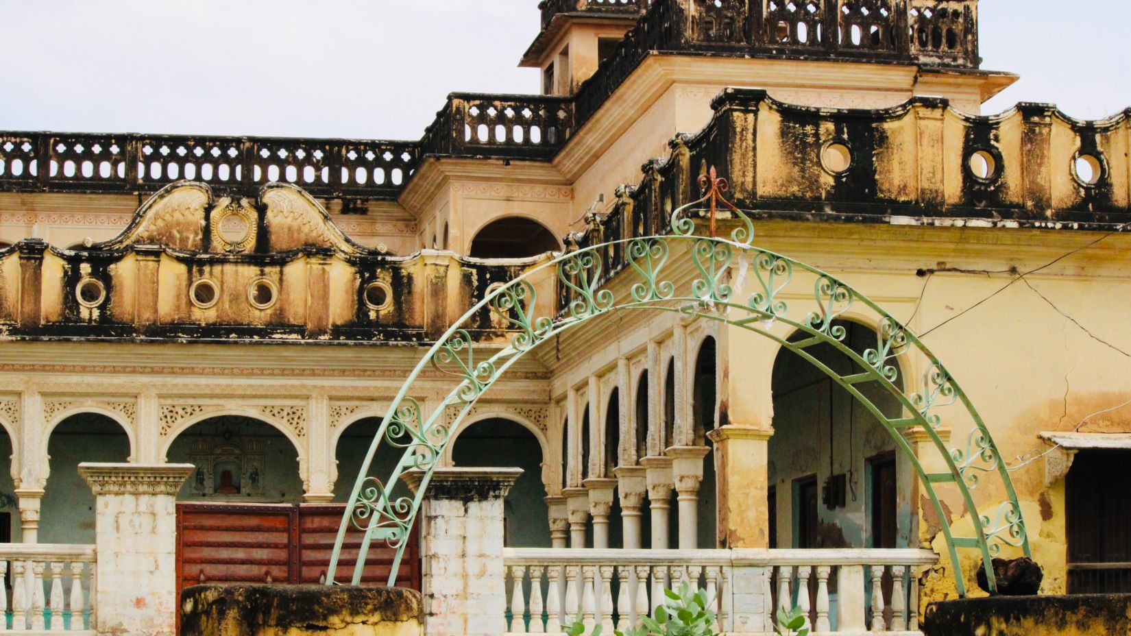
{"type": "MultiPolygon", "coordinates": [[[[847,320],[841,341],[857,353],[875,332],[847,320]]],[[[809,337],[794,334],[789,341],[809,337]]],[[[806,349],[839,375],[857,367],[830,344],[806,349]]],[[[900,375],[901,377],[901,375],[900,375]]],[[[897,380],[899,384],[899,380],[897,380]]],[[[878,383],[854,385],[887,415],[900,404],[878,383]]],[[[784,548],[906,548],[914,475],[897,470],[883,424],[829,376],[788,349],[774,361],[774,437],[769,440],[770,525],[784,548]]]]}

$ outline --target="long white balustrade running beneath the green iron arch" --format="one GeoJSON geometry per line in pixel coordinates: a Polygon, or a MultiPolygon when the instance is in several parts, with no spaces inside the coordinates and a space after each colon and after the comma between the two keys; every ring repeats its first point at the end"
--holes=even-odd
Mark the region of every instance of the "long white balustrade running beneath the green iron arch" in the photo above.
{"type": "MultiPolygon", "coordinates": [[[[929,550],[504,551],[512,634],[562,634],[580,618],[606,634],[664,602],[664,590],[703,588],[716,630],[772,630],[777,608],[801,608],[813,634],[918,634],[918,575],[929,550]]],[[[53,576],[53,570],[52,570],[53,576]]]]}

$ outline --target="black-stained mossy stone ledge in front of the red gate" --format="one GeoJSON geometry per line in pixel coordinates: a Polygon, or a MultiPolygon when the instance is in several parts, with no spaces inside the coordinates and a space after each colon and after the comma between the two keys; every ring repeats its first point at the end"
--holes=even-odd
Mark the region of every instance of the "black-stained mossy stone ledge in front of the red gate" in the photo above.
{"type": "Polygon", "coordinates": [[[406,587],[196,585],[181,593],[182,636],[418,636],[406,587]]]}

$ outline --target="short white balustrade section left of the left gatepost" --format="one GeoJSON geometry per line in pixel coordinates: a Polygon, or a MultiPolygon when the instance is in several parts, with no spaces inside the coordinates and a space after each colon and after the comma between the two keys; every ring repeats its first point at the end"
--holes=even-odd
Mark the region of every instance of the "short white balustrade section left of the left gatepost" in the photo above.
{"type": "Polygon", "coordinates": [[[94,566],[94,545],[0,543],[0,629],[93,634],[94,566]]]}

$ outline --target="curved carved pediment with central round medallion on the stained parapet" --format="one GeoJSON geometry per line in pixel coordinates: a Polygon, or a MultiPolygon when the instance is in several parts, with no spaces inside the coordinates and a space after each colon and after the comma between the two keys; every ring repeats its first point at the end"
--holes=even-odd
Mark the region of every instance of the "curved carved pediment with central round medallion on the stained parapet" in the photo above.
{"type": "Polygon", "coordinates": [[[126,231],[93,249],[132,246],[215,253],[370,251],[351,241],[313,197],[287,183],[268,183],[256,199],[216,198],[206,183],[172,183],[138,208],[126,231]]]}

